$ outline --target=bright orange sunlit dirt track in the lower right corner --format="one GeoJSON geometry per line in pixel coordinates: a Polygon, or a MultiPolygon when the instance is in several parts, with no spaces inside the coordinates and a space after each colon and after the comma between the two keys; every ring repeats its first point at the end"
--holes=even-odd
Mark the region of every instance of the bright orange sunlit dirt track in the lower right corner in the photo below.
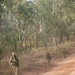
{"type": "Polygon", "coordinates": [[[70,57],[43,75],[75,75],[75,57],[70,57]]]}

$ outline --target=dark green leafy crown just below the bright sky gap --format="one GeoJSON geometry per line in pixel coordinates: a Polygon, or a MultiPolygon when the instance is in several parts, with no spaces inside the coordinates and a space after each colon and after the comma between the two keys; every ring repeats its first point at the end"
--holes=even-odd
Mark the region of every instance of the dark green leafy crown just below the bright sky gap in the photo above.
{"type": "Polygon", "coordinates": [[[20,4],[18,6],[18,13],[20,14],[21,18],[30,22],[35,16],[33,9],[33,4],[20,4]]]}

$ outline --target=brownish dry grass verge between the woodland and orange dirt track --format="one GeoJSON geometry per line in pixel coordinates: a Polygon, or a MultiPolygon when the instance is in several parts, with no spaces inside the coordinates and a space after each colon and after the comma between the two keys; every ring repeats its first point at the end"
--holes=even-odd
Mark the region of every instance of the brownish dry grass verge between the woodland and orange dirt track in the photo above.
{"type": "MultiPolygon", "coordinates": [[[[46,61],[46,52],[48,51],[53,60],[60,60],[63,58],[62,50],[68,51],[68,56],[74,53],[75,43],[74,42],[65,42],[58,46],[55,51],[53,47],[48,47],[48,50],[45,48],[33,49],[32,51],[23,52],[19,56],[20,60],[20,75],[37,75],[41,72],[46,72],[55,66],[55,62],[52,62],[52,66],[48,67],[46,61]],[[45,69],[46,68],[46,69],[45,69]]],[[[5,57],[0,63],[0,75],[14,75],[11,66],[8,64],[9,56],[5,57]]]]}

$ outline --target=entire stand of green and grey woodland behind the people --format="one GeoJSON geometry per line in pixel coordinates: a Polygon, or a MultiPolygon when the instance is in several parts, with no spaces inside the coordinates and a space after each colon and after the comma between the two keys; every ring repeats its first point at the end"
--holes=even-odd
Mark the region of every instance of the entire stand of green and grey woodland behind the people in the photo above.
{"type": "Polygon", "coordinates": [[[74,40],[74,0],[0,0],[0,57],[74,40]]]}

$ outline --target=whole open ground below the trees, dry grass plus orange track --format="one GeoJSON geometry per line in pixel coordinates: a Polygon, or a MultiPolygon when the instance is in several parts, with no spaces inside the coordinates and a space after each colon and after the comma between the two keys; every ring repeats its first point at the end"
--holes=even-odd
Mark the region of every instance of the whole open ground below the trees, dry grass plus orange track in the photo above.
{"type": "MultiPolygon", "coordinates": [[[[51,53],[52,60],[50,66],[46,60],[46,54],[43,48],[33,50],[31,52],[23,52],[19,57],[20,67],[19,75],[74,75],[75,74],[75,47],[74,43],[67,45],[68,51],[67,57],[64,58],[60,52],[51,53]]],[[[66,48],[66,49],[67,49],[66,48]]],[[[51,51],[52,52],[52,51],[51,51]]],[[[14,75],[11,66],[9,65],[9,57],[4,57],[0,63],[1,75],[14,75]]]]}

